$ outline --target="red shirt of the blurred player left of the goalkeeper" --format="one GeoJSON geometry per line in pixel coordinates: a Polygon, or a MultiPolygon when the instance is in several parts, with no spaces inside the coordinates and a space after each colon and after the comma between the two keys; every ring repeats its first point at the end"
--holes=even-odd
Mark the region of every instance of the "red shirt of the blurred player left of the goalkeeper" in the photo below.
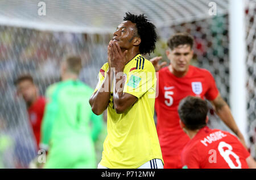
{"type": "Polygon", "coordinates": [[[44,107],[46,106],[46,99],[44,97],[39,97],[34,104],[28,108],[28,118],[32,125],[32,129],[35,135],[36,144],[39,148],[40,143],[40,129],[41,123],[44,115],[44,107]]]}

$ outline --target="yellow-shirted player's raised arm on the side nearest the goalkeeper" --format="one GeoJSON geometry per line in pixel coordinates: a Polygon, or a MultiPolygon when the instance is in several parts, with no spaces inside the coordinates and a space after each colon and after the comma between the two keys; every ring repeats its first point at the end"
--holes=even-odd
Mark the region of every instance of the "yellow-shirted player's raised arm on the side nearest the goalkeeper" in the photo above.
{"type": "Polygon", "coordinates": [[[92,111],[96,115],[102,114],[108,108],[110,99],[110,68],[104,78],[100,88],[96,90],[89,99],[92,111]]]}

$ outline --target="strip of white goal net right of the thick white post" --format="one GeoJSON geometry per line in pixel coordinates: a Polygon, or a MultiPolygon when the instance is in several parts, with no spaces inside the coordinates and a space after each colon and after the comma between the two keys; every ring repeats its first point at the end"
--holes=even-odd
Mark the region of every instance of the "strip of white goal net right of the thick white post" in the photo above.
{"type": "Polygon", "coordinates": [[[246,3],[247,120],[251,156],[256,158],[256,1],[246,3]]]}

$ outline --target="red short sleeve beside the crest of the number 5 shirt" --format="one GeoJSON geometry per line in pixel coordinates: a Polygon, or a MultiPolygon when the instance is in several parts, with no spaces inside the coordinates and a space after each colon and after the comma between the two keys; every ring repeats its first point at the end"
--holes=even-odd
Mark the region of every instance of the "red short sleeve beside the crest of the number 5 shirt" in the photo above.
{"type": "Polygon", "coordinates": [[[210,72],[207,71],[206,77],[207,77],[206,82],[208,83],[209,89],[208,89],[207,93],[205,94],[205,98],[207,98],[209,101],[212,101],[218,95],[218,88],[217,88],[216,82],[210,72]]]}

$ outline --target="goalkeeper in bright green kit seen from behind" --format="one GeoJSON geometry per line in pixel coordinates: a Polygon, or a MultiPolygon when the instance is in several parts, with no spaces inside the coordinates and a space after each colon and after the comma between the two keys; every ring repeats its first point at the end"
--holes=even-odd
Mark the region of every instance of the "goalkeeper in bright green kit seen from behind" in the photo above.
{"type": "Polygon", "coordinates": [[[61,64],[62,81],[46,91],[40,142],[40,148],[48,150],[44,168],[96,168],[93,141],[103,122],[90,108],[92,89],[78,80],[81,68],[80,57],[67,58],[61,64]]]}

